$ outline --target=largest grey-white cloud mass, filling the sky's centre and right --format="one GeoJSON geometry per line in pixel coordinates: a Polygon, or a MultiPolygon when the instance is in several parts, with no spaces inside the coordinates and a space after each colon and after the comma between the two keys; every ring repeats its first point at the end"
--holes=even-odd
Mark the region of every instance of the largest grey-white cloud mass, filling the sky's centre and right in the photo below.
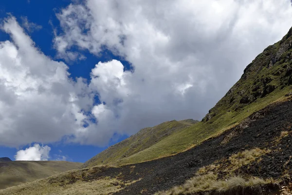
{"type": "Polygon", "coordinates": [[[105,132],[135,133],[171,119],[201,119],[257,54],[292,26],[290,0],[87,0],[57,14],[60,58],[71,48],[125,58],[99,62],[90,89],[103,104],[80,133],[87,143],[105,132]],[[93,136],[94,135],[94,136],[93,136]]]}

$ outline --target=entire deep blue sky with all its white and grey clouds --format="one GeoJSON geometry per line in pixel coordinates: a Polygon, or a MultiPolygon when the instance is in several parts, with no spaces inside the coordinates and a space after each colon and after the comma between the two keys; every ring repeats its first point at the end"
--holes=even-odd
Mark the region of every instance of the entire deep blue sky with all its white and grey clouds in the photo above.
{"type": "Polygon", "coordinates": [[[0,156],[85,162],[201,120],[291,18],[290,0],[3,0],[0,156]]]}

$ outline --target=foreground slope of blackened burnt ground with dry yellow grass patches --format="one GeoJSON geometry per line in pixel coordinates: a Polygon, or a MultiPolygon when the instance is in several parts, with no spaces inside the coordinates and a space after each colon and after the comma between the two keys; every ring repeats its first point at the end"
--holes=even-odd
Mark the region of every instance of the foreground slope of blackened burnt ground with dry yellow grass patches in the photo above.
{"type": "Polygon", "coordinates": [[[243,122],[175,156],[119,168],[97,166],[73,170],[0,190],[0,195],[290,193],[291,99],[289,96],[283,102],[273,103],[248,117],[248,123],[243,122]]]}

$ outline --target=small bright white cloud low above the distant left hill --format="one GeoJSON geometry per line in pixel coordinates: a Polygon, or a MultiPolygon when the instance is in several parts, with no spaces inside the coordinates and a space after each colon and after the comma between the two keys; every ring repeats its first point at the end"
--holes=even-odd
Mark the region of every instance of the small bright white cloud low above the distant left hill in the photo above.
{"type": "Polygon", "coordinates": [[[49,146],[35,144],[25,150],[19,150],[14,157],[15,160],[48,160],[50,151],[51,148],[49,146]]]}

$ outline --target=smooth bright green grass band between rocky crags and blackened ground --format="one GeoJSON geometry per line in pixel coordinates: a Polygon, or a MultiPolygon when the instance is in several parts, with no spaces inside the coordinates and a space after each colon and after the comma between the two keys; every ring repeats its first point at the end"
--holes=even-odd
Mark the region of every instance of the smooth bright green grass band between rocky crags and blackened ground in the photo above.
{"type": "Polygon", "coordinates": [[[221,135],[224,131],[234,127],[244,118],[250,116],[256,111],[275,102],[282,101],[287,93],[291,92],[291,87],[282,90],[275,90],[270,95],[257,99],[255,102],[247,105],[243,110],[238,112],[226,112],[212,123],[199,122],[180,132],[175,132],[169,137],[152,145],[151,147],[140,151],[132,156],[128,156],[112,162],[112,165],[125,165],[158,159],[164,156],[175,155],[188,150],[203,141],[221,135]]]}

